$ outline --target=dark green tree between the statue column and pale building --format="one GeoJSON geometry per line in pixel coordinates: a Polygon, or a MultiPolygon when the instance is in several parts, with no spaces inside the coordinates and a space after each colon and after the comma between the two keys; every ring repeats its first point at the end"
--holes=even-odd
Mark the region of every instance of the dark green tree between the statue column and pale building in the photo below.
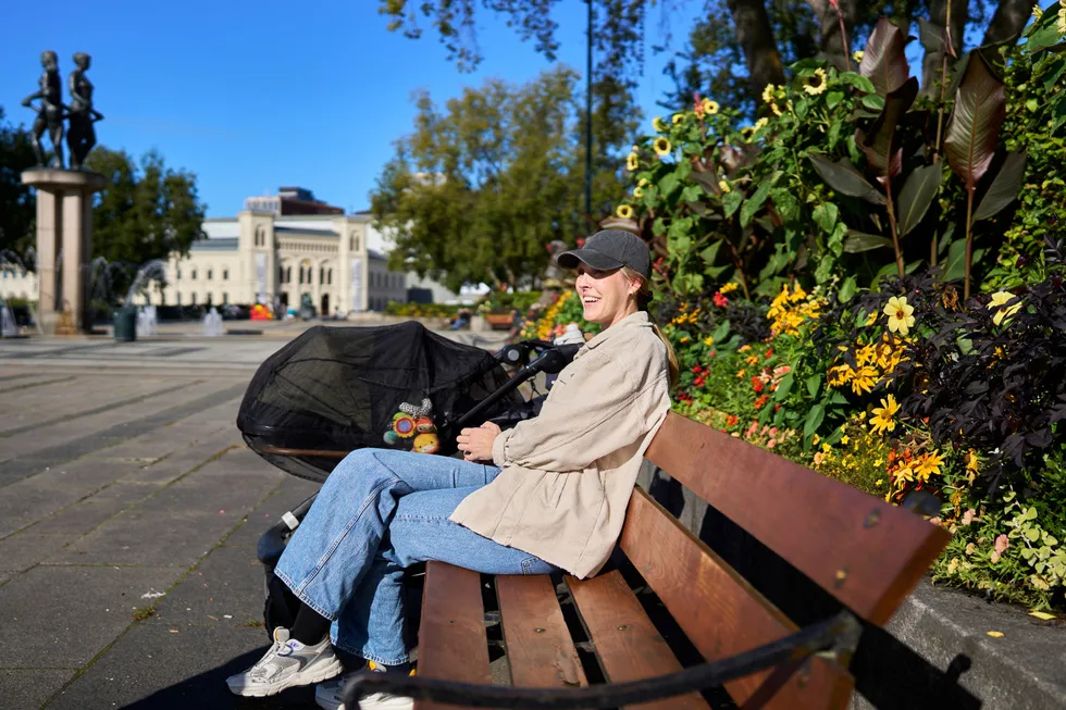
{"type": "Polygon", "coordinates": [[[98,147],[87,167],[108,178],[92,208],[92,254],[140,264],[185,254],[203,236],[204,204],[196,175],[168,167],[162,155],[145,153],[138,166],[125,151],[98,147]]]}

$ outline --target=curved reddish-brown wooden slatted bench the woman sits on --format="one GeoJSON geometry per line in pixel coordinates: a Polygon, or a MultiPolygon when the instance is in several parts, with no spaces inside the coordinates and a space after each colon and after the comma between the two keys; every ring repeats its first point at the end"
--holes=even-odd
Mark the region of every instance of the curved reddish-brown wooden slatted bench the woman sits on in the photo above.
{"type": "Polygon", "coordinates": [[[706,688],[724,688],[743,710],[846,707],[854,686],[848,665],[864,627],[889,621],[947,533],[674,413],[646,456],[832,595],[842,611],[801,627],[636,488],[618,547],[703,662],[682,665],[620,569],[583,581],[566,575],[558,587],[547,575],[497,576],[501,634],[494,647],[506,655],[511,687],[493,686],[486,626],[497,614],[486,622],[482,575],[430,562],[418,676],[367,674],[346,688],[346,707],[389,689],[414,697],[416,710],[696,709],[710,707],[699,692],[706,688]],[[590,682],[582,655],[594,657],[606,683],[590,682]]]}

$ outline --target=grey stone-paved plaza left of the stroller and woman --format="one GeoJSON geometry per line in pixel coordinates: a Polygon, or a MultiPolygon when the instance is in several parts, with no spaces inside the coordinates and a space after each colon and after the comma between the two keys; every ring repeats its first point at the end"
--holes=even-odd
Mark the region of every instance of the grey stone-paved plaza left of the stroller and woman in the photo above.
{"type": "Polygon", "coordinates": [[[224,684],[266,647],[256,541],[317,488],[234,424],[293,334],[0,340],[0,709],[315,707],[224,684]]]}

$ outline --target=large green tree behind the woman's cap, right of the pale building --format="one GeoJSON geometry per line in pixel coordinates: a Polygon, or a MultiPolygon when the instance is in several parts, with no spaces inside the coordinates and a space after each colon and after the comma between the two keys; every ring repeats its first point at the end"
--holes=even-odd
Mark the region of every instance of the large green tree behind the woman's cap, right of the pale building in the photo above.
{"type": "MultiPolygon", "coordinates": [[[[491,79],[444,107],[417,98],[414,129],[371,196],[379,226],[395,239],[394,266],[466,283],[533,285],[546,245],[573,244],[594,224],[583,213],[584,112],[578,75],[566,67],[523,86],[491,79]]],[[[619,152],[636,126],[629,94],[594,86],[593,212],[624,192],[619,152]]]]}

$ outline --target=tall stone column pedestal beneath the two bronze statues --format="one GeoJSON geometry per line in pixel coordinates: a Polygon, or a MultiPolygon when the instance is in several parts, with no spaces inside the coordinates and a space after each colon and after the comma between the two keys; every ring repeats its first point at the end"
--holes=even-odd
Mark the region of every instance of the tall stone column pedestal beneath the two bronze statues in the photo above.
{"type": "Polygon", "coordinates": [[[37,167],[24,172],[22,183],[37,189],[37,319],[41,329],[46,335],[85,333],[91,325],[92,194],[108,180],[99,173],[37,167]]]}

